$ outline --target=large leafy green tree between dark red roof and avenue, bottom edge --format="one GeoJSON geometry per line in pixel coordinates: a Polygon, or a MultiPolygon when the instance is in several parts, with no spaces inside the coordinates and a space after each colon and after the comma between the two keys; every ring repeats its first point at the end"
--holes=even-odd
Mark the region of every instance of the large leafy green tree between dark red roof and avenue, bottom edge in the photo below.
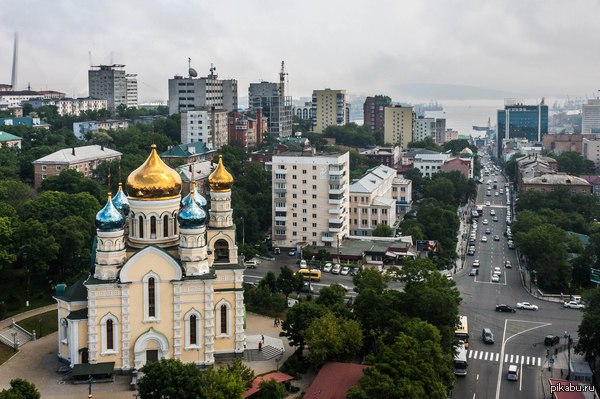
{"type": "Polygon", "coordinates": [[[434,326],[409,319],[393,344],[379,346],[374,366],[365,369],[360,387],[347,398],[446,398],[454,380],[452,357],[443,351],[434,326]]]}

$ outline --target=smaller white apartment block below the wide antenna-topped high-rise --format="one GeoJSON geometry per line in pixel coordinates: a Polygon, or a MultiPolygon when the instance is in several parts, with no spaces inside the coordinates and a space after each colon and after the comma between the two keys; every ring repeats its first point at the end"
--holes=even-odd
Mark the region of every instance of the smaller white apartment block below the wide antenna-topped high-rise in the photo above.
{"type": "Polygon", "coordinates": [[[181,113],[181,143],[197,142],[211,150],[227,144],[227,110],[203,107],[181,113]]]}

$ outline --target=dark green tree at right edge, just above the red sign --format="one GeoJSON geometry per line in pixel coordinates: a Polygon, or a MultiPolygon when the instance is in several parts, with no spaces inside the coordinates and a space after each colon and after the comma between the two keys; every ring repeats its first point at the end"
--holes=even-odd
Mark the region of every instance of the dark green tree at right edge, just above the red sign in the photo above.
{"type": "Polygon", "coordinates": [[[577,331],[579,342],[575,351],[585,354],[588,359],[595,359],[600,355],[600,290],[589,289],[583,293],[582,298],[586,306],[577,331]]]}

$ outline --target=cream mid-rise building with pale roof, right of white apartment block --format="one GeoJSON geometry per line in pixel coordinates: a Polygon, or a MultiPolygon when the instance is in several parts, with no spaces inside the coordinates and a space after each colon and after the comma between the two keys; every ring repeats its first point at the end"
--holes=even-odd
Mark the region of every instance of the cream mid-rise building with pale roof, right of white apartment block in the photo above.
{"type": "Polygon", "coordinates": [[[371,236],[382,223],[393,227],[399,216],[397,202],[410,202],[411,188],[412,182],[399,178],[395,169],[369,169],[350,185],[350,235],[371,236]]]}

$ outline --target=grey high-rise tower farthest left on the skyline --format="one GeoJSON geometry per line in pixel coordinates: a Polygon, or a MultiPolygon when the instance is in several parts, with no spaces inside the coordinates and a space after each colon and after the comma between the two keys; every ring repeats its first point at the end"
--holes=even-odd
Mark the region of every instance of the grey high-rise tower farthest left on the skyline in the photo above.
{"type": "MultiPolygon", "coordinates": [[[[107,109],[115,113],[119,105],[128,106],[128,83],[125,65],[97,65],[88,71],[88,85],[91,98],[106,100],[107,109]]],[[[135,95],[137,104],[137,80],[135,82],[135,95]]],[[[132,91],[133,95],[133,91],[132,91]]]]}

